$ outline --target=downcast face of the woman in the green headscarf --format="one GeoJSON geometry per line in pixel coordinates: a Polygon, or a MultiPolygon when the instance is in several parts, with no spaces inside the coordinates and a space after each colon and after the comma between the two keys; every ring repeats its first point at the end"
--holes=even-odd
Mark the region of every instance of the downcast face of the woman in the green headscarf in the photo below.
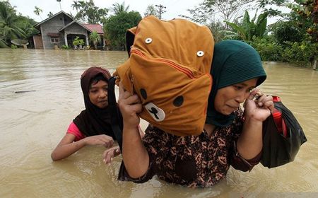
{"type": "Polygon", "coordinates": [[[223,115],[230,115],[240,103],[243,103],[249,96],[249,92],[255,88],[258,78],[253,78],[242,83],[218,89],[214,100],[216,111],[223,115]]]}

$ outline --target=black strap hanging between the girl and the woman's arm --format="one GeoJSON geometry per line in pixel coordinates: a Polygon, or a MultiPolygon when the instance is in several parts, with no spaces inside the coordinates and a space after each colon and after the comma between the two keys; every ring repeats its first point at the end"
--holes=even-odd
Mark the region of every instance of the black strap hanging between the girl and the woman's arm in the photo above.
{"type": "Polygon", "coordinates": [[[108,81],[108,105],[110,106],[110,114],[112,124],[112,132],[114,132],[114,136],[117,139],[120,150],[122,151],[122,113],[119,111],[116,102],[116,95],[114,92],[115,81],[117,76],[113,76],[108,81]]]}

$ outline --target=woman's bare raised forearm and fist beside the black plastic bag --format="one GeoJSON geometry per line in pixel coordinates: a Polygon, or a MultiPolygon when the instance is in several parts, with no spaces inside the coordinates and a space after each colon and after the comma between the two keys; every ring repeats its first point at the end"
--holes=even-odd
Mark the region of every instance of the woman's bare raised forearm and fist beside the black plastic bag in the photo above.
{"type": "Polygon", "coordinates": [[[259,93],[258,89],[252,91],[245,101],[245,122],[237,140],[237,152],[242,158],[249,160],[261,152],[263,122],[271,115],[273,108],[273,98],[259,93]],[[260,97],[254,100],[255,95],[260,97]]]}

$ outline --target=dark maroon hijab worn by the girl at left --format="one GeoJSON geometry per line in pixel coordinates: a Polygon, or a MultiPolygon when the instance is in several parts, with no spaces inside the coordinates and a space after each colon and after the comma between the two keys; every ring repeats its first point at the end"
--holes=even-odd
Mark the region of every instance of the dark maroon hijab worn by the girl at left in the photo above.
{"type": "Polygon", "coordinates": [[[84,95],[85,110],[78,115],[73,122],[78,129],[86,136],[94,136],[99,134],[106,134],[112,136],[114,139],[114,133],[110,124],[110,107],[101,109],[93,105],[90,102],[88,92],[90,90],[90,83],[95,76],[102,74],[105,77],[107,83],[110,79],[110,71],[101,67],[92,66],[83,72],[81,76],[81,88],[84,95]]]}

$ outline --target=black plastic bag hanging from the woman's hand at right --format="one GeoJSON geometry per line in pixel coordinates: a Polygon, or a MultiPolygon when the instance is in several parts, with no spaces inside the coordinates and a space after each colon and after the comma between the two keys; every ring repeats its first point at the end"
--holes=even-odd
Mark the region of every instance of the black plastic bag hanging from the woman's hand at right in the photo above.
{"type": "Polygon", "coordinates": [[[307,141],[305,133],[293,113],[281,102],[275,102],[274,106],[282,113],[288,136],[284,137],[278,132],[272,115],[263,122],[261,164],[268,168],[275,168],[294,161],[300,146],[307,141]]]}

